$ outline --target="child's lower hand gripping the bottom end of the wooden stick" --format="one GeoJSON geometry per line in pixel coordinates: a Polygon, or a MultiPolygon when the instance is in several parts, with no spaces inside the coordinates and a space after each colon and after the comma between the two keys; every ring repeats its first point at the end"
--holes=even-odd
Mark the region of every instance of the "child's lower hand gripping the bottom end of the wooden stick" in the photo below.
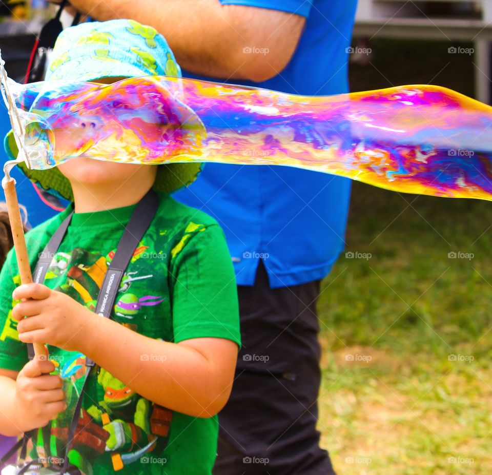
{"type": "Polygon", "coordinates": [[[18,428],[44,427],[67,408],[63,380],[50,375],[55,365],[49,360],[34,358],[19,371],[15,382],[15,418],[18,428]]]}

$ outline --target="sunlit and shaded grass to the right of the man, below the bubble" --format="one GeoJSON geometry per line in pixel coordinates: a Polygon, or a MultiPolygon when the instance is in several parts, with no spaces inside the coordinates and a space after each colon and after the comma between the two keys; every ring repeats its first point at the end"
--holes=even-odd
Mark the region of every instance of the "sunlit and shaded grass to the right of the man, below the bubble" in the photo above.
{"type": "Polygon", "coordinates": [[[356,257],[319,301],[319,429],[340,475],[489,475],[491,241],[492,203],[354,184],[356,257]]]}

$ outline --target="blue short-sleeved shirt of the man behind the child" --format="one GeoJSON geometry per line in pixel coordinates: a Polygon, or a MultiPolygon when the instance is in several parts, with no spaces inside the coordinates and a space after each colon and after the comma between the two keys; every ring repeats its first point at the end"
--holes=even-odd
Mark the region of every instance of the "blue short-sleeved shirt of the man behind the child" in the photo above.
{"type": "MultiPolygon", "coordinates": [[[[346,49],[356,0],[220,2],[306,17],[298,47],[280,74],[260,83],[228,82],[302,95],[348,92],[346,49]]],[[[199,78],[186,71],[183,75],[199,78]]],[[[283,287],[330,272],[344,247],[350,186],[345,178],[289,167],[207,163],[191,187],[174,196],[219,221],[239,285],[254,284],[263,259],[271,287],[283,287]]]]}

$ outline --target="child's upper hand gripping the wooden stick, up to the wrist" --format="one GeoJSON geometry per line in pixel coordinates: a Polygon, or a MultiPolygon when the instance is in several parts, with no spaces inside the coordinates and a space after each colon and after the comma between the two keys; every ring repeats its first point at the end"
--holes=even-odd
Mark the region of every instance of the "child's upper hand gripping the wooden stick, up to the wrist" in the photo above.
{"type": "Polygon", "coordinates": [[[95,316],[88,308],[43,284],[20,285],[12,297],[14,300],[25,299],[12,309],[12,318],[18,321],[20,341],[81,351],[84,338],[87,338],[84,328],[89,318],[95,316]]]}

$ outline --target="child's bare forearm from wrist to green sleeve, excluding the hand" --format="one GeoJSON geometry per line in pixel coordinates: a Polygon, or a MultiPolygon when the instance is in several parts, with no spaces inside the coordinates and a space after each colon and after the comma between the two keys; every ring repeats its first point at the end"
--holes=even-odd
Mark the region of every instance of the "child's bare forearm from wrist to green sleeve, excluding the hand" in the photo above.
{"type": "Polygon", "coordinates": [[[96,315],[94,320],[97,335],[84,353],[141,396],[195,417],[212,417],[226,404],[238,351],[233,341],[169,343],[96,315]]]}

